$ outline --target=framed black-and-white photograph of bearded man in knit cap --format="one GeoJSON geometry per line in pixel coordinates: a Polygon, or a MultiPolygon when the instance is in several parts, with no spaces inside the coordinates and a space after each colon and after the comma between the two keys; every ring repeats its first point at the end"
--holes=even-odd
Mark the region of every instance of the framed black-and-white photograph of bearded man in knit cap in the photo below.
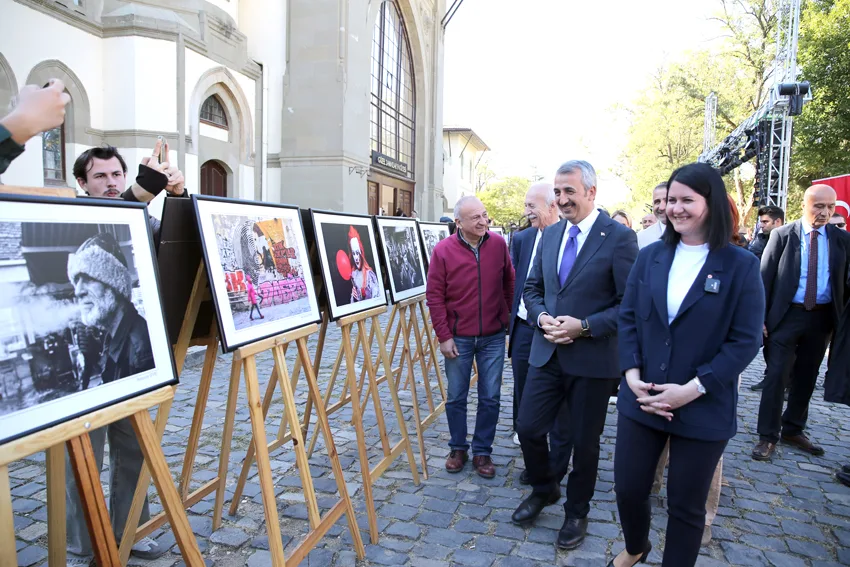
{"type": "Polygon", "coordinates": [[[0,195],[0,444],[176,382],[144,205],[0,195]]]}

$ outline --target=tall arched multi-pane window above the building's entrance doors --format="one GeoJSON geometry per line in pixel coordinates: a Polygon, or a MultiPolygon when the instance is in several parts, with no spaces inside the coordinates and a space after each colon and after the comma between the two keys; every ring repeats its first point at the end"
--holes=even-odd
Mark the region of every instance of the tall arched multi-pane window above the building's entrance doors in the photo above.
{"type": "Polygon", "coordinates": [[[372,41],[372,150],[407,164],[413,178],[416,97],[407,30],[395,0],[381,4],[372,41]]]}

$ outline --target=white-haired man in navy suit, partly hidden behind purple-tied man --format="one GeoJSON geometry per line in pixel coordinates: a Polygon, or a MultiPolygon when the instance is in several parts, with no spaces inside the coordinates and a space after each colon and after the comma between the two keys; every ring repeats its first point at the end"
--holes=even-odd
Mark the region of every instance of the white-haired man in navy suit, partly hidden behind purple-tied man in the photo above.
{"type": "MultiPolygon", "coordinates": [[[[525,279],[531,271],[537,245],[543,235],[543,229],[558,222],[558,205],[555,202],[555,189],[551,183],[535,183],[525,194],[525,217],[529,227],[514,234],[511,242],[511,260],[516,270],[514,287],[514,302],[511,307],[510,343],[508,357],[514,375],[514,413],[513,423],[516,432],[516,422],[519,415],[519,405],[522,391],[525,388],[525,378],[528,375],[528,356],[531,354],[531,340],[534,338],[534,321],[528,319],[528,309],[522,299],[525,279]]],[[[555,427],[549,434],[549,445],[552,452],[551,460],[555,467],[555,477],[560,484],[567,474],[567,468],[572,453],[569,442],[569,420],[556,421],[555,427]]],[[[514,443],[519,445],[519,437],[514,433],[514,443]]],[[[528,471],[523,471],[519,477],[520,484],[528,484],[528,471]]]]}

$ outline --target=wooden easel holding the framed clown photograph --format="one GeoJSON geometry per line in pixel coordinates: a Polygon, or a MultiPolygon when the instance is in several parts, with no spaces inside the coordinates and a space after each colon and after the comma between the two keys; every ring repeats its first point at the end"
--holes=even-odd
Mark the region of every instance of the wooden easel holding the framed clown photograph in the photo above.
{"type": "MultiPolygon", "coordinates": [[[[404,421],[404,414],[402,413],[401,404],[398,401],[398,391],[395,380],[385,380],[386,384],[390,390],[390,396],[393,400],[393,409],[395,410],[396,419],[398,420],[398,427],[401,434],[401,440],[393,447],[390,446],[389,439],[387,437],[387,427],[384,423],[384,412],[381,408],[381,398],[378,394],[378,380],[377,380],[377,364],[373,364],[372,361],[372,338],[374,337],[376,341],[376,346],[378,349],[378,356],[381,359],[381,363],[384,366],[384,376],[392,375],[392,363],[390,361],[389,355],[387,354],[387,343],[384,339],[384,331],[381,329],[381,322],[378,319],[381,315],[387,312],[387,308],[385,306],[376,307],[374,309],[370,309],[368,311],[364,311],[362,313],[358,313],[355,315],[349,315],[347,317],[343,317],[337,321],[337,325],[339,325],[342,332],[342,351],[345,356],[345,366],[346,366],[346,376],[347,381],[346,385],[343,388],[343,401],[338,402],[336,405],[340,403],[351,403],[351,422],[354,425],[354,431],[357,435],[357,452],[360,457],[360,472],[363,476],[363,494],[365,495],[366,500],[366,514],[369,520],[369,534],[370,539],[373,544],[378,543],[378,518],[375,512],[375,500],[372,495],[372,484],[375,479],[380,478],[382,474],[389,468],[389,466],[395,461],[395,459],[402,454],[402,452],[407,453],[407,461],[410,465],[410,474],[413,477],[413,483],[419,484],[419,472],[416,470],[416,461],[413,457],[413,449],[410,446],[410,438],[407,434],[407,424],[404,421]],[[371,329],[372,333],[368,336],[369,340],[365,340],[364,337],[367,336],[366,333],[366,321],[371,320],[371,329]],[[358,384],[357,374],[355,370],[355,357],[356,357],[356,347],[352,345],[351,342],[351,329],[354,326],[357,326],[357,333],[359,337],[359,343],[362,347],[363,351],[363,364],[366,369],[366,373],[369,376],[369,386],[368,392],[365,395],[363,402],[360,400],[360,395],[362,393],[363,384],[358,384]],[[349,394],[346,396],[346,389],[349,394]],[[384,456],[383,458],[374,466],[371,467],[369,464],[369,455],[366,449],[366,432],[363,427],[363,415],[366,408],[366,402],[368,401],[369,396],[372,398],[372,405],[375,408],[375,417],[377,419],[378,424],[378,433],[381,438],[381,448],[383,449],[384,456]],[[344,402],[344,400],[348,398],[348,402],[344,402]]],[[[328,397],[332,392],[332,387],[328,389],[328,397]]],[[[316,410],[319,410],[320,404],[318,403],[318,396],[316,396],[316,410]]]]}

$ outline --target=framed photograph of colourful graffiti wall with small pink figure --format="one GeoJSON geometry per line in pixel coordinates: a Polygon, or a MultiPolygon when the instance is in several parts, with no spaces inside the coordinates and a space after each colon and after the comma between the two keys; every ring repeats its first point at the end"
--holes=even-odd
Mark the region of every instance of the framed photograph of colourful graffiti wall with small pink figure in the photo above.
{"type": "Polygon", "coordinates": [[[298,207],[192,200],[224,352],[321,320],[298,207]]]}

